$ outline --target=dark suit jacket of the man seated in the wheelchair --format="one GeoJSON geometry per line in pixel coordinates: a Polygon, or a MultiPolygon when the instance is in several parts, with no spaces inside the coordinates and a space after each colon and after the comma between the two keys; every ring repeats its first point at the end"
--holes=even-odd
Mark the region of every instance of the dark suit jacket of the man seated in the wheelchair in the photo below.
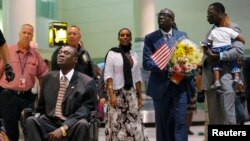
{"type": "MultiPolygon", "coordinates": [[[[51,71],[44,76],[36,112],[53,117],[59,85],[59,71],[51,71]]],[[[79,119],[89,120],[90,112],[95,110],[96,103],[95,81],[75,71],[63,98],[62,112],[67,117],[63,125],[70,127],[79,119]]]]}

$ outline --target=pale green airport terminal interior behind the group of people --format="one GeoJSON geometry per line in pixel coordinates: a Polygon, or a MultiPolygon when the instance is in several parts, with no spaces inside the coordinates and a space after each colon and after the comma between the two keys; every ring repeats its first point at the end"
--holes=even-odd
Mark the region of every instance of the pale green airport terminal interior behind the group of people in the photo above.
{"type": "MultiPolygon", "coordinates": [[[[250,56],[250,1],[217,0],[226,7],[230,19],[237,24],[246,39],[244,57],[250,56]]],[[[18,41],[22,24],[35,27],[33,42],[44,59],[51,59],[53,51],[65,43],[60,37],[61,29],[77,25],[81,29],[82,42],[95,64],[103,67],[107,51],[117,46],[118,30],[126,27],[132,31],[132,49],[142,63],[144,36],[156,29],[157,13],[162,8],[175,12],[175,22],[180,30],[199,44],[212,27],[207,22],[207,7],[215,0],[0,0],[0,29],[9,45],[18,41]],[[53,32],[53,36],[50,37],[53,32]],[[57,41],[58,38],[58,41],[57,41]],[[51,41],[50,41],[51,40],[51,41]]],[[[147,75],[147,72],[144,72],[147,75]]],[[[145,92],[147,82],[143,83],[145,92]]],[[[150,97],[144,95],[142,114],[150,141],[155,141],[154,109],[150,97]]],[[[190,141],[204,140],[204,103],[197,103],[190,141]]],[[[248,122],[247,122],[248,124],[248,122]]],[[[20,132],[21,133],[21,132],[20,132]]],[[[104,129],[99,130],[100,141],[104,140],[104,129]]],[[[20,139],[23,141],[23,139],[20,139]]]]}

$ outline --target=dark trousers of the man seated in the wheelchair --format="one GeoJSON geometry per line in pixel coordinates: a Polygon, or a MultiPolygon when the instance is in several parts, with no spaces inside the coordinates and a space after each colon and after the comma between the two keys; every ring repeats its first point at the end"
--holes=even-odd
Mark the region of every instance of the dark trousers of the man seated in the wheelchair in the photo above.
{"type": "MultiPolygon", "coordinates": [[[[46,141],[48,134],[62,126],[62,121],[42,115],[26,120],[28,141],[46,141]]],[[[63,141],[89,141],[89,123],[80,119],[67,131],[63,141]]]]}

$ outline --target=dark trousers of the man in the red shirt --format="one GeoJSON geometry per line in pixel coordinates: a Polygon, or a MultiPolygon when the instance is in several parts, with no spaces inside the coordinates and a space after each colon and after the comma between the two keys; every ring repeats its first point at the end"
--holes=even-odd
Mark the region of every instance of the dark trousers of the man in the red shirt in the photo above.
{"type": "Polygon", "coordinates": [[[30,91],[17,94],[0,88],[0,114],[10,141],[18,141],[21,112],[24,108],[34,108],[35,97],[30,91]]]}

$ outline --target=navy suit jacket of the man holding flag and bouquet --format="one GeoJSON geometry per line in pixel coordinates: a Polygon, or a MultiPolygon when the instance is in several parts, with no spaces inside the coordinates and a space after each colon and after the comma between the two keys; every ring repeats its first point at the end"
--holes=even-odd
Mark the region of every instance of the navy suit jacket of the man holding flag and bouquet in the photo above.
{"type": "MultiPolygon", "coordinates": [[[[172,31],[172,36],[176,40],[182,36],[187,36],[185,32],[175,29],[172,31]]],[[[158,100],[162,99],[167,92],[169,84],[168,70],[161,71],[150,56],[161,46],[162,42],[163,34],[161,30],[157,30],[145,36],[143,47],[143,68],[151,72],[147,87],[147,95],[158,100]]]]}

